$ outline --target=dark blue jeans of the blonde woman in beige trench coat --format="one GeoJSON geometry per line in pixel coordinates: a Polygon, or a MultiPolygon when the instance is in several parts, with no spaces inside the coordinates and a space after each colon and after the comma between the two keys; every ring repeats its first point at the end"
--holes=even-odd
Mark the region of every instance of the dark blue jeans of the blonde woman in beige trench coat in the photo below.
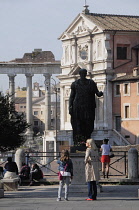
{"type": "Polygon", "coordinates": [[[88,182],[88,198],[95,200],[96,197],[97,197],[96,181],[90,181],[88,182]]]}

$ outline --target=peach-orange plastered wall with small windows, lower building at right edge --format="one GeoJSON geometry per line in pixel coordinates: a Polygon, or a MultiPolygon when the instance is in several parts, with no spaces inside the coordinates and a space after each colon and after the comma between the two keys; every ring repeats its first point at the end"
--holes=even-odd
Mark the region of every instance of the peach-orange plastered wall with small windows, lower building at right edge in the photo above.
{"type": "Polygon", "coordinates": [[[120,96],[115,96],[115,89],[113,89],[113,116],[121,116],[121,134],[128,140],[135,144],[139,143],[138,126],[139,126],[139,94],[138,94],[139,80],[122,81],[114,83],[120,85],[120,96]],[[125,85],[128,84],[128,94],[125,94],[125,85]],[[129,116],[126,116],[126,108],[129,106],[129,116]]]}

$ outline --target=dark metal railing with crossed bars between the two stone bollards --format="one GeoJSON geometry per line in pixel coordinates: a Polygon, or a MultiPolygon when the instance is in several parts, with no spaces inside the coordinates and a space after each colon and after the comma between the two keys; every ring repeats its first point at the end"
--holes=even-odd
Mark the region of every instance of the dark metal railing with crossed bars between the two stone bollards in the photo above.
{"type": "MultiPolygon", "coordinates": [[[[109,176],[127,176],[128,173],[128,159],[127,159],[127,153],[128,151],[113,151],[114,157],[111,158],[110,161],[110,172],[109,176]]],[[[75,153],[76,154],[76,153],[75,153]]],[[[82,154],[78,158],[84,159],[84,155],[82,154]]],[[[32,163],[37,163],[40,168],[42,169],[45,176],[56,176],[58,171],[57,166],[57,159],[60,157],[60,152],[58,153],[52,153],[52,152],[29,152],[26,153],[26,161],[29,165],[32,163]],[[47,158],[47,163],[43,164],[42,160],[43,158],[47,158]]],[[[74,157],[74,154],[72,154],[71,158],[74,157]]],[[[75,157],[77,157],[75,155],[75,157]]],[[[99,155],[99,167],[101,171],[101,161],[100,161],[101,155],[99,155]]]]}

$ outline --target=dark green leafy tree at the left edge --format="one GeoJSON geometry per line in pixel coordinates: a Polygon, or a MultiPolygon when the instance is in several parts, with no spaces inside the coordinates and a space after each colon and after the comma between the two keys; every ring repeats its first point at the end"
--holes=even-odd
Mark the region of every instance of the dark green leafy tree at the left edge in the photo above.
{"type": "Polygon", "coordinates": [[[28,127],[24,114],[16,112],[14,103],[9,102],[9,95],[0,95],[0,151],[14,150],[23,145],[28,127]]]}

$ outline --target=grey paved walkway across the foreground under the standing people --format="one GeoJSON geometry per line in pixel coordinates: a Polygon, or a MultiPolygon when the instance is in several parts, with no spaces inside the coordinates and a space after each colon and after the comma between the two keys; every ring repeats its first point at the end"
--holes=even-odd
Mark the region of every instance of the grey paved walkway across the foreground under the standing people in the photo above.
{"type": "Polygon", "coordinates": [[[0,210],[138,210],[139,185],[104,185],[97,201],[85,201],[86,192],[71,188],[69,201],[57,202],[57,185],[23,186],[5,191],[0,210]]]}

